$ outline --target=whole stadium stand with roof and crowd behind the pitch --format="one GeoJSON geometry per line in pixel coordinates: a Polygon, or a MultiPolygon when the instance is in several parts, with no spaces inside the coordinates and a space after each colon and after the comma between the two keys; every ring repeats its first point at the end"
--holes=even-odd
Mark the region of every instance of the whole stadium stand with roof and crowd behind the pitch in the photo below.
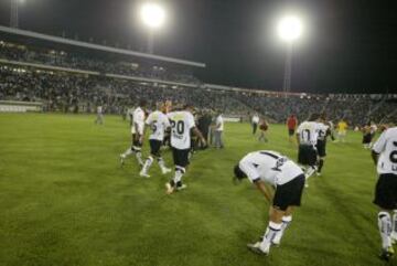
{"type": "Polygon", "coordinates": [[[245,119],[259,111],[276,123],[314,111],[352,126],[397,118],[397,95],[286,95],[204,84],[193,74],[201,63],[10,31],[0,28],[0,100],[42,103],[44,111],[92,113],[103,105],[106,113],[122,114],[143,97],[152,106],[160,99],[189,102],[245,119]]]}

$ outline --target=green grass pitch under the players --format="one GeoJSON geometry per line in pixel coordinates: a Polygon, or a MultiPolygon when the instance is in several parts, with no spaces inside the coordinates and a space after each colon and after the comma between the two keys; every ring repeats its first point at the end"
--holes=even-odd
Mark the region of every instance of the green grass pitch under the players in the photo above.
{"type": "Polygon", "coordinates": [[[249,125],[227,124],[226,149],[196,153],[187,190],[167,196],[170,175],[155,163],[151,179],[138,177],[132,159],[120,168],[128,124],[94,119],[0,115],[0,265],[385,265],[372,204],[377,178],[361,134],[329,143],[323,175],[310,180],[281,246],[261,257],[246,244],[264,233],[268,203],[248,181],[233,184],[232,170],[254,150],[296,159],[285,126],[272,125],[270,142],[259,143],[249,125]]]}

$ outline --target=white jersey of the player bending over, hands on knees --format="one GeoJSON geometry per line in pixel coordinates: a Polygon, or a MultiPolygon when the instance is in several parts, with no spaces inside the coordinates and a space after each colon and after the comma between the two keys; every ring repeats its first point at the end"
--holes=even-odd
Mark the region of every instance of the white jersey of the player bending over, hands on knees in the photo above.
{"type": "Polygon", "coordinates": [[[275,187],[303,174],[302,169],[293,161],[269,150],[248,153],[240,160],[239,168],[251,182],[261,180],[275,187]]]}

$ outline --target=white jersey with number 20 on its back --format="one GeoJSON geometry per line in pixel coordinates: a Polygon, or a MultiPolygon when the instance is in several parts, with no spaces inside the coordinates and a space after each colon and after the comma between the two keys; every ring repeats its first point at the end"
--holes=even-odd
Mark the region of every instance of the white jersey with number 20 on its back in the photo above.
{"type": "Polygon", "coordinates": [[[179,150],[191,148],[191,129],[195,127],[194,117],[187,110],[167,115],[171,123],[171,146],[179,150]]]}

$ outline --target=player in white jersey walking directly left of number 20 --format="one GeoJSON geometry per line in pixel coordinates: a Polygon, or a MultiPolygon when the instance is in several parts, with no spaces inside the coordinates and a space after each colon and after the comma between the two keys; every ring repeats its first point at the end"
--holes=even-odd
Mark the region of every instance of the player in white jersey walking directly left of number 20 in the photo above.
{"type": "Polygon", "coordinates": [[[163,111],[165,111],[165,107],[161,105],[159,110],[151,113],[146,120],[146,125],[152,130],[152,132],[149,137],[150,156],[146,160],[142,170],[139,173],[139,175],[144,178],[150,178],[148,171],[154,161],[153,158],[157,158],[163,174],[171,172],[171,169],[165,167],[164,160],[161,157],[161,146],[164,140],[164,132],[170,127],[170,120],[163,111]]]}

